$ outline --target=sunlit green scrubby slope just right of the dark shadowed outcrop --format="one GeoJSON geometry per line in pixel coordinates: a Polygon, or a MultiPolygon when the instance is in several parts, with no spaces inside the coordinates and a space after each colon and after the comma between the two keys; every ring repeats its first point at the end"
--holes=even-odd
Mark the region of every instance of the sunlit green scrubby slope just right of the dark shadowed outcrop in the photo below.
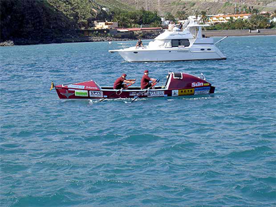
{"type": "Polygon", "coordinates": [[[94,20],[117,21],[121,27],[132,27],[141,24],[160,25],[157,12],[144,9],[135,10],[126,3],[116,0],[48,0],[56,10],[63,12],[77,23],[79,28],[92,28],[94,20]],[[108,8],[109,11],[103,10],[108,8]]]}

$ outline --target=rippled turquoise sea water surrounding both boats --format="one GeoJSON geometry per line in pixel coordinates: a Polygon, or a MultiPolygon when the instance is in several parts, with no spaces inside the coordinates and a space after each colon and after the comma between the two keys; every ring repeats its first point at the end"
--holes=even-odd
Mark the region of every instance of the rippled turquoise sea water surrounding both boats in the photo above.
{"type": "Polygon", "coordinates": [[[126,63],[108,53],[116,45],[0,48],[0,206],[276,206],[276,37],[228,37],[225,61],[126,63]],[[145,69],[161,83],[202,72],[215,95],[95,103],[49,91],[145,69]]]}

